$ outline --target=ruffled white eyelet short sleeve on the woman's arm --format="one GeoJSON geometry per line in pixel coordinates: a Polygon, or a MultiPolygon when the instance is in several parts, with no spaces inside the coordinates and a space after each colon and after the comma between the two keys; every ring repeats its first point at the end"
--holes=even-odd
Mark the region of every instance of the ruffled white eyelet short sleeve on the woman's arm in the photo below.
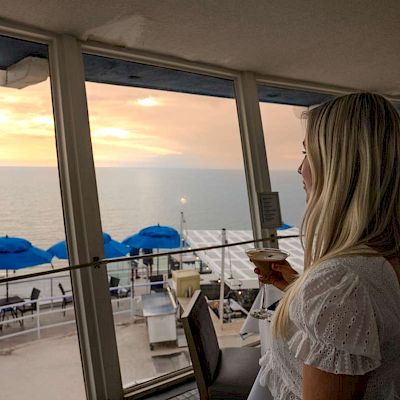
{"type": "Polygon", "coordinates": [[[381,364],[376,315],[360,278],[343,265],[318,267],[299,293],[296,358],[323,371],[364,375],[381,364]]]}

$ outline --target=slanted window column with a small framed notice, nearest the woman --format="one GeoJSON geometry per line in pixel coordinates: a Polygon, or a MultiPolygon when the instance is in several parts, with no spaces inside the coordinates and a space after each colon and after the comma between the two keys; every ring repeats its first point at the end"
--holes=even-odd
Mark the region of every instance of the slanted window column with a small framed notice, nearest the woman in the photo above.
{"type": "MultiPolygon", "coordinates": [[[[261,227],[258,203],[258,193],[271,192],[271,181],[254,73],[240,73],[239,78],[235,80],[235,95],[253,235],[255,239],[273,238],[276,236],[276,229],[261,227]]],[[[278,243],[272,239],[263,243],[263,246],[278,247],[278,243]]]]}

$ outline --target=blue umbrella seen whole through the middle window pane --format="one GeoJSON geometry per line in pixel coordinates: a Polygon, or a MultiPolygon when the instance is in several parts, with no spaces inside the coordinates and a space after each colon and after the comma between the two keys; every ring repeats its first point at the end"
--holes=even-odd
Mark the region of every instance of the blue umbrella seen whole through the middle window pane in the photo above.
{"type": "Polygon", "coordinates": [[[154,225],[127,237],[122,243],[137,249],[177,249],[180,247],[180,240],[176,229],[154,225]]]}

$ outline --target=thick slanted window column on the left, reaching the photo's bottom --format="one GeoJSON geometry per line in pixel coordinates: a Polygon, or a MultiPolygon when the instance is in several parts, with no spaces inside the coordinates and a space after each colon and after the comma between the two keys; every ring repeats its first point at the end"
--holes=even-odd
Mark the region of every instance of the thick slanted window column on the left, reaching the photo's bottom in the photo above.
{"type": "MultiPolygon", "coordinates": [[[[70,263],[104,255],[79,42],[60,36],[50,69],[66,237],[70,263]]],[[[75,314],[89,400],[121,400],[121,373],[105,267],[71,273],[75,314]]]]}

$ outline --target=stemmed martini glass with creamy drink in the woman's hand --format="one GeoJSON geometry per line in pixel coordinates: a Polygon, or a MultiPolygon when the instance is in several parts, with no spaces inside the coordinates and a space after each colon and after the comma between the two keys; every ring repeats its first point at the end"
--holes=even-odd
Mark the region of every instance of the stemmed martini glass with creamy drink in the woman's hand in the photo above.
{"type": "MultiPolygon", "coordinates": [[[[286,260],[288,253],[274,248],[254,248],[246,250],[246,254],[250,261],[260,270],[261,274],[268,278],[272,274],[272,264],[286,260]]],[[[252,310],[250,315],[258,319],[270,319],[273,312],[265,306],[266,287],[268,284],[263,283],[261,286],[261,307],[258,310],[252,310]]]]}

